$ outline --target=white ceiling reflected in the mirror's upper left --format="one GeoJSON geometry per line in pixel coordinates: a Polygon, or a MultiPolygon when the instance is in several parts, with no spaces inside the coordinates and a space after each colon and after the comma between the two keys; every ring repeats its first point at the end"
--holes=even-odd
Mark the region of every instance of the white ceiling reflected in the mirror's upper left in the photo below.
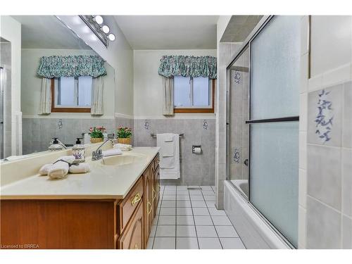
{"type": "Polygon", "coordinates": [[[13,15],[21,23],[23,49],[91,49],[54,15],[13,15]]]}

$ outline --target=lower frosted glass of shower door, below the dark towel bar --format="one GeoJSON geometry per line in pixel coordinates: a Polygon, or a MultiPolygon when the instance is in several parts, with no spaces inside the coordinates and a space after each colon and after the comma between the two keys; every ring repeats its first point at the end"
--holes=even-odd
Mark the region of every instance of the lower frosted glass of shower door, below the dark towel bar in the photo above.
{"type": "Polygon", "coordinates": [[[297,246],[298,122],[251,125],[250,201],[297,246]]]}

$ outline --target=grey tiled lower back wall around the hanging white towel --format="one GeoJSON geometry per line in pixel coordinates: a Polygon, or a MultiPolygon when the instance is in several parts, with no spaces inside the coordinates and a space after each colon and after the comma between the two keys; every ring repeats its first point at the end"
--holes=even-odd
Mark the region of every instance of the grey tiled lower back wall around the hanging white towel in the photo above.
{"type": "Polygon", "coordinates": [[[180,138],[179,180],[163,184],[213,185],[215,182],[215,119],[135,119],[134,146],[156,146],[151,133],[184,134],[180,138]],[[202,153],[193,154],[192,145],[201,145],[202,153]]]}

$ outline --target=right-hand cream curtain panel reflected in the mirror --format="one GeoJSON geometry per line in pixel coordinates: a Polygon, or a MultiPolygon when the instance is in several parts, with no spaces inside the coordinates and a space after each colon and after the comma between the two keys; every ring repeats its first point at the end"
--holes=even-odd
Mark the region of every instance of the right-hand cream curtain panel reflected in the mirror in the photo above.
{"type": "Polygon", "coordinates": [[[104,89],[104,77],[96,77],[92,80],[92,104],[91,111],[92,115],[103,115],[103,89],[104,89]]]}

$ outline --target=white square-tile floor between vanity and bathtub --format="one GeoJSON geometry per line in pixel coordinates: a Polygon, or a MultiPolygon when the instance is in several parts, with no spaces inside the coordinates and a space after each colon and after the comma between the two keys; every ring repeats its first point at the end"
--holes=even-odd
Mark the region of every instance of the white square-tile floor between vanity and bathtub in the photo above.
{"type": "Polygon", "coordinates": [[[215,208],[214,190],[162,186],[147,248],[245,249],[225,211],[215,208]]]}

